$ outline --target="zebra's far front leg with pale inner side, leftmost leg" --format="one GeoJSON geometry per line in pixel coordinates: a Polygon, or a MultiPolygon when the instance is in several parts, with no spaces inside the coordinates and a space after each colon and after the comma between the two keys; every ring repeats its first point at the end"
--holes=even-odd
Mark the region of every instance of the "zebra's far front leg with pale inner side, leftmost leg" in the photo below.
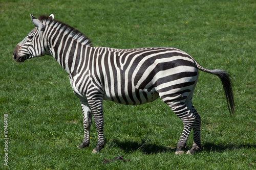
{"type": "Polygon", "coordinates": [[[83,128],[84,135],[83,140],[77,148],[82,149],[89,147],[90,144],[90,127],[92,125],[92,112],[87,102],[81,102],[82,105],[82,118],[83,118],[83,128]]]}

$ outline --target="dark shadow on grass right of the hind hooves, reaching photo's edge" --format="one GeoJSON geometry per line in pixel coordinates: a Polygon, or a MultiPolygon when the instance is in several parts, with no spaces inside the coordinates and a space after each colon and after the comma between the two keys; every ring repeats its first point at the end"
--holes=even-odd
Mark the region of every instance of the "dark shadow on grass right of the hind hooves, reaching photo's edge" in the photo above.
{"type": "Polygon", "coordinates": [[[255,144],[214,144],[214,143],[205,143],[203,146],[204,152],[225,152],[228,150],[234,150],[234,149],[250,149],[250,148],[256,148],[255,144]]]}

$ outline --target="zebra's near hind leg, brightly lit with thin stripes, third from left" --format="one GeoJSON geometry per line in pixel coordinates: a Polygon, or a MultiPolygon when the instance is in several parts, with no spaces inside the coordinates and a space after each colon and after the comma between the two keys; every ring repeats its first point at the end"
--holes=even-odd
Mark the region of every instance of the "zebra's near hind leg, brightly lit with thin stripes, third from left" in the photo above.
{"type": "Polygon", "coordinates": [[[191,113],[188,107],[185,105],[184,102],[168,102],[167,105],[174,111],[174,113],[181,119],[184,128],[181,134],[181,137],[177,144],[177,149],[175,154],[180,155],[183,154],[183,149],[186,146],[187,138],[191,132],[191,129],[195,122],[195,115],[191,113]]]}

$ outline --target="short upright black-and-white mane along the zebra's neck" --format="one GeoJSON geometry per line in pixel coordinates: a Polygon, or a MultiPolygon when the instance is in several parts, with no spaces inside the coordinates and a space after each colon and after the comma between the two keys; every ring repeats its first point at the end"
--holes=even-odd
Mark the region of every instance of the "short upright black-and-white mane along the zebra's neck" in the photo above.
{"type": "Polygon", "coordinates": [[[86,35],[84,35],[80,31],[76,30],[75,28],[67,25],[66,23],[52,19],[52,17],[46,16],[46,15],[41,15],[41,16],[39,16],[38,19],[41,22],[48,23],[49,26],[54,26],[54,25],[56,25],[56,22],[57,22],[57,25],[58,25],[60,31],[61,30],[66,31],[70,36],[72,36],[74,39],[81,42],[82,44],[92,46],[91,40],[86,35]]]}

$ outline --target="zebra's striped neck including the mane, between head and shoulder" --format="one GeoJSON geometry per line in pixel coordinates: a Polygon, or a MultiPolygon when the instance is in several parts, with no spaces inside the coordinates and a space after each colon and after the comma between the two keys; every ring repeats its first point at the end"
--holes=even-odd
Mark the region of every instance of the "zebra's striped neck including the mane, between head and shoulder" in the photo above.
{"type": "Polygon", "coordinates": [[[40,18],[45,22],[45,40],[47,42],[47,51],[63,67],[68,74],[72,74],[74,68],[81,62],[80,55],[82,50],[91,46],[91,40],[73,27],[57,20],[42,16],[40,18]]]}

